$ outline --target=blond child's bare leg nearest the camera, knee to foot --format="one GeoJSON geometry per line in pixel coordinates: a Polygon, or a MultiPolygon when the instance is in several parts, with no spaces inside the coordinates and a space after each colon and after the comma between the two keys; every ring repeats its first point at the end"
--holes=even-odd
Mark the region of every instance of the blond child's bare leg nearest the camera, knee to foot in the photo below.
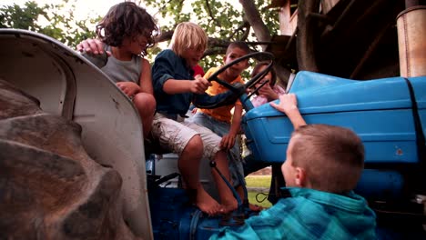
{"type": "Polygon", "coordinates": [[[194,135],[179,156],[178,168],[187,183],[188,190],[197,191],[196,205],[208,215],[217,215],[221,206],[213,199],[199,182],[199,164],[203,155],[203,142],[199,135],[194,135]]]}

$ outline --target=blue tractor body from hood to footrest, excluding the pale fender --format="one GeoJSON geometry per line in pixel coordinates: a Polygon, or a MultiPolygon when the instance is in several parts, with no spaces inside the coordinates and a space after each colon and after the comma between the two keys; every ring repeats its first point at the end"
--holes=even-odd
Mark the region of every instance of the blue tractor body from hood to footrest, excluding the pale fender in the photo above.
{"type": "MultiPolygon", "coordinates": [[[[425,76],[419,76],[357,81],[301,71],[289,86],[289,93],[298,95],[299,109],[307,123],[340,125],[360,135],[366,159],[355,192],[366,197],[378,215],[380,239],[426,236],[425,80],[425,76]]],[[[289,119],[270,105],[253,108],[247,95],[241,95],[240,101],[247,111],[243,128],[254,159],[259,165],[282,164],[293,131],[289,119]]],[[[158,182],[175,176],[167,175],[158,182]]],[[[226,219],[207,217],[197,209],[184,207],[187,199],[182,190],[158,185],[149,192],[154,194],[150,195],[151,211],[161,213],[152,218],[158,239],[170,235],[205,239],[223,226],[238,227],[255,215],[241,203],[241,208],[226,219]]],[[[279,195],[279,191],[271,188],[269,194],[279,195]]]]}

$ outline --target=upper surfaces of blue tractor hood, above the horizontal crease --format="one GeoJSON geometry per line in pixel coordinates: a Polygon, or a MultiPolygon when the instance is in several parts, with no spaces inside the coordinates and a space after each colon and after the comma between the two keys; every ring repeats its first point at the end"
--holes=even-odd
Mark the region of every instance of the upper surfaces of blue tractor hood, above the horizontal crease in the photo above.
{"type": "MultiPolygon", "coordinates": [[[[342,79],[341,81],[336,81],[333,85],[330,85],[330,81],[323,84],[317,83],[317,78],[321,79],[323,76],[325,75],[310,72],[300,72],[296,76],[289,92],[298,95],[299,109],[302,114],[411,107],[410,92],[404,78],[391,77],[374,81],[342,79]],[[308,82],[309,78],[316,79],[313,82],[313,86],[305,89],[295,86],[299,79],[308,82]]],[[[327,79],[332,78],[327,76],[327,79]]],[[[270,108],[269,105],[261,105],[250,110],[245,117],[250,120],[261,116],[276,115],[282,114],[270,108]]]]}

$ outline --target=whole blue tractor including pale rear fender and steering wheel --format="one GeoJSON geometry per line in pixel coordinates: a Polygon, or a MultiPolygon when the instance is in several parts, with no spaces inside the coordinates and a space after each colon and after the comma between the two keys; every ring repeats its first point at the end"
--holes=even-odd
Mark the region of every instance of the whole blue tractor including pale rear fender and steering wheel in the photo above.
{"type": "MultiPolygon", "coordinates": [[[[115,207],[122,212],[119,216],[132,235],[146,239],[208,239],[220,228],[244,225],[247,217],[256,215],[241,201],[238,210],[225,217],[208,217],[188,205],[188,197],[179,181],[176,186],[170,184],[178,179],[178,173],[158,175],[157,164],[164,160],[157,161],[146,155],[135,107],[82,55],[46,35],[24,30],[0,29],[0,45],[0,84],[4,87],[2,91],[6,91],[2,93],[10,94],[10,89],[20,89],[27,99],[38,102],[40,111],[81,126],[81,141],[96,167],[113,169],[120,175],[121,182],[117,184],[120,190],[111,195],[119,196],[119,204],[115,207]]],[[[257,55],[269,58],[269,66],[274,63],[274,56],[268,53],[247,57],[257,55]]],[[[416,75],[364,81],[299,71],[288,85],[289,93],[297,94],[300,112],[307,123],[341,125],[360,135],[366,149],[366,162],[355,191],[366,197],[378,215],[377,233],[381,239],[426,238],[426,72],[421,72],[421,67],[425,69],[420,65],[416,75]]],[[[216,77],[218,73],[210,80],[220,83],[216,77]]],[[[285,161],[284,153],[293,127],[285,115],[269,105],[253,108],[245,93],[262,74],[246,85],[222,84],[239,95],[244,105],[247,113],[242,125],[256,161],[259,165],[280,165],[285,161]]],[[[4,101],[8,95],[2,94],[2,97],[4,101]]],[[[9,102],[9,105],[17,102],[9,102]]],[[[5,105],[0,105],[0,109],[6,109],[5,105]]],[[[39,113],[38,110],[35,113],[39,113]]],[[[5,118],[5,113],[1,114],[0,124],[21,117],[16,114],[5,118]]],[[[5,155],[5,145],[21,147],[23,144],[19,141],[25,140],[22,137],[10,140],[7,133],[10,132],[0,131],[0,169],[13,165],[8,158],[12,156],[5,155]]],[[[214,167],[214,163],[206,167],[214,167]]],[[[16,177],[11,173],[5,172],[9,182],[16,177]]],[[[89,177],[90,173],[82,175],[89,177]]],[[[0,190],[5,190],[3,187],[5,185],[0,185],[0,190]]],[[[271,195],[279,195],[273,191],[271,195]]],[[[24,198],[15,197],[15,201],[32,200],[30,196],[24,198]]],[[[5,199],[0,197],[2,212],[7,210],[5,199]]],[[[39,203],[38,200],[32,202],[39,203]]],[[[94,210],[97,205],[90,203],[77,207],[79,217],[86,213],[90,218],[98,213],[94,210]]],[[[16,213],[16,217],[19,216],[16,213]]],[[[80,234],[81,238],[85,238],[85,233],[98,233],[100,228],[96,227],[102,227],[83,227],[86,221],[72,222],[81,228],[69,227],[67,220],[74,216],[66,215],[64,221],[55,225],[49,225],[49,221],[42,223],[49,231],[65,229],[65,235],[80,234]]],[[[12,224],[0,221],[0,226],[5,235],[14,236],[12,224]]],[[[44,232],[37,233],[43,235],[44,232]]],[[[123,238],[117,234],[110,236],[123,238]]]]}

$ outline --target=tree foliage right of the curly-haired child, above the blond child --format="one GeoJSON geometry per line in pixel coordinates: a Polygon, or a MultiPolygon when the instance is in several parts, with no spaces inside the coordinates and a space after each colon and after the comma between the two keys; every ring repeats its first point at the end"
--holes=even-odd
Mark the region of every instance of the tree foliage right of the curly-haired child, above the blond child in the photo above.
{"type": "MultiPolygon", "coordinates": [[[[162,35],[171,36],[175,26],[183,21],[191,21],[200,25],[208,34],[208,50],[200,65],[205,69],[223,64],[223,55],[228,44],[233,41],[244,41],[250,44],[253,51],[259,51],[256,44],[258,41],[269,41],[270,36],[277,34],[279,29],[278,12],[269,9],[269,1],[264,0],[146,0],[144,3],[149,7],[158,9],[157,18],[166,19],[166,25],[160,25],[162,35]],[[258,19],[250,18],[244,4],[254,5],[258,19]],[[267,39],[259,39],[252,25],[266,26],[268,30],[267,39]]],[[[165,37],[162,41],[169,40],[165,37]]],[[[154,51],[155,52],[155,51],[154,51]]]]}

